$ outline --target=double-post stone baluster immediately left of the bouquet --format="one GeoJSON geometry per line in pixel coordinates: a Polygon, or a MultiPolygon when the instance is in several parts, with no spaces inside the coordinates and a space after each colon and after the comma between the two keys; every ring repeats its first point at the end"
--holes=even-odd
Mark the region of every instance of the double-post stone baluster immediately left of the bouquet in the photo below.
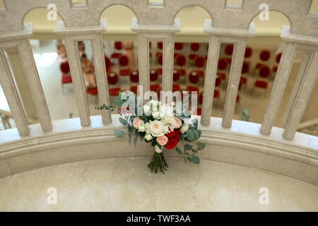
{"type": "MultiPolygon", "coordinates": [[[[57,34],[64,35],[66,52],[69,59],[73,87],[78,105],[78,113],[82,126],[90,126],[90,111],[88,108],[86,87],[81,70],[81,61],[78,53],[77,42],[80,40],[92,41],[99,102],[100,104],[110,105],[105,58],[102,47],[102,32],[105,32],[106,27],[106,19],[101,19],[100,25],[86,29],[66,28],[63,21],[58,21],[57,27],[55,28],[55,32],[57,34]]],[[[112,122],[109,110],[103,111],[101,114],[103,124],[110,124],[112,122]]]]}

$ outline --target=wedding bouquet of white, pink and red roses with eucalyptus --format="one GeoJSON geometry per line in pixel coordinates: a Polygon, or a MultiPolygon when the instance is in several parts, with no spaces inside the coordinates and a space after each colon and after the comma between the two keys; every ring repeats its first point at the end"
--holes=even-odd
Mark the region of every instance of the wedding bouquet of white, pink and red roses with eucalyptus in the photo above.
{"type": "MultiPolygon", "coordinates": [[[[191,120],[189,112],[176,114],[176,107],[184,109],[182,102],[163,105],[157,100],[151,100],[146,105],[140,104],[139,107],[134,107],[134,93],[130,92],[119,93],[114,102],[120,107],[119,121],[127,127],[129,143],[131,138],[134,138],[136,145],[137,139],[140,138],[141,141],[151,143],[155,147],[153,158],[148,165],[151,172],[157,173],[159,169],[160,172],[165,173],[167,170],[168,165],[163,150],[175,150],[183,156],[184,162],[199,164],[200,159],[196,153],[205,148],[205,143],[189,144],[200,138],[201,131],[198,129],[198,120],[191,120]],[[183,151],[177,147],[180,141],[184,143],[183,151]]],[[[113,110],[114,107],[102,105],[96,109],[113,110]]],[[[124,131],[114,130],[114,134],[121,137],[124,136],[124,131]]]]}

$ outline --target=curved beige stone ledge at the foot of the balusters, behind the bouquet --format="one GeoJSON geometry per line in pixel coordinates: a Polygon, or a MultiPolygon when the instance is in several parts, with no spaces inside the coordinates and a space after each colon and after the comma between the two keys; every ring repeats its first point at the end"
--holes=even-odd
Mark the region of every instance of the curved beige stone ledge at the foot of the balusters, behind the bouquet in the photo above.
{"type": "MultiPolygon", "coordinates": [[[[153,147],[147,143],[138,142],[132,148],[126,136],[114,137],[112,130],[122,127],[118,117],[112,115],[113,123],[107,126],[102,125],[100,116],[91,117],[92,126],[83,128],[79,119],[53,121],[53,131],[48,133],[35,124],[30,126],[31,135],[23,138],[16,129],[0,131],[0,177],[66,162],[150,157],[153,147]]],[[[211,126],[201,126],[201,141],[206,143],[206,149],[199,153],[201,159],[264,169],[318,184],[317,137],[296,133],[294,141],[285,141],[282,129],[274,128],[271,136],[262,136],[259,124],[233,121],[231,129],[223,129],[221,121],[212,117],[211,126]]],[[[165,155],[177,156],[170,151],[165,155]]]]}

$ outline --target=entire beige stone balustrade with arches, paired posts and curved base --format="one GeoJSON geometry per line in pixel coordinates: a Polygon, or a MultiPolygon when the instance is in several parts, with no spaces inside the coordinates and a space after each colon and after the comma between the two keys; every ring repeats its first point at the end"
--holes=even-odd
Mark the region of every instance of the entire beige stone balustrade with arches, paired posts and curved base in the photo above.
{"type": "MultiPolygon", "coordinates": [[[[0,162],[3,163],[0,165],[0,172],[2,170],[2,175],[90,158],[90,156],[79,157],[81,151],[76,155],[75,150],[72,155],[63,156],[62,150],[67,153],[67,147],[72,145],[74,147],[75,143],[77,144],[75,146],[79,147],[78,145],[88,141],[91,146],[84,148],[85,151],[88,151],[89,148],[98,148],[98,144],[92,145],[90,141],[103,143],[113,139],[110,131],[114,127],[114,122],[112,122],[110,112],[102,112],[101,117],[90,117],[76,44],[78,40],[91,40],[99,102],[110,105],[102,47],[102,32],[105,32],[107,23],[105,19],[100,19],[105,8],[119,4],[130,8],[136,14],[136,18],[131,23],[131,30],[137,33],[139,83],[143,85],[143,92],[146,92],[150,86],[149,40],[163,40],[163,91],[172,90],[174,38],[175,33],[181,30],[180,20],[175,16],[185,6],[195,5],[204,8],[211,16],[211,20],[206,20],[204,25],[204,31],[210,35],[210,40],[204,100],[199,121],[204,129],[202,139],[210,142],[211,153],[213,150],[216,150],[216,153],[220,151],[221,157],[218,157],[218,154],[216,157],[210,153],[207,154],[208,158],[268,169],[317,184],[317,137],[296,133],[314,89],[318,71],[318,14],[310,12],[312,0],[243,0],[242,6],[238,7],[228,6],[226,3],[226,0],[174,0],[158,1],[157,4],[150,3],[148,0],[87,0],[86,4],[78,6],[73,5],[71,0],[4,0],[5,8],[0,9],[0,82],[17,128],[0,132],[0,162]],[[259,9],[261,4],[267,4],[269,10],[283,13],[290,21],[290,27],[283,26],[281,31],[281,39],[285,41],[283,54],[264,114],[264,121],[258,125],[232,119],[247,38],[257,35],[251,21],[261,13],[259,9]],[[35,66],[28,40],[33,33],[33,25],[32,23],[24,24],[23,20],[32,9],[47,8],[47,6],[56,6],[56,13],[62,19],[57,22],[55,32],[64,35],[79,119],[51,120],[35,66]],[[222,42],[234,44],[234,51],[223,119],[212,119],[213,98],[210,93],[213,93],[214,90],[218,55],[222,42]],[[28,124],[18,89],[4,54],[4,50],[8,48],[18,50],[30,89],[30,98],[33,98],[40,124],[31,126],[28,124]],[[290,105],[290,113],[284,128],[273,128],[295,53],[298,50],[307,52],[300,67],[302,79],[296,89],[293,103],[290,105]],[[75,134],[73,139],[72,134],[75,134]],[[85,134],[89,134],[89,137],[86,137],[85,134]],[[100,136],[93,138],[93,134],[100,136]],[[103,134],[105,138],[103,138],[103,134]],[[62,137],[63,141],[60,140],[62,137]],[[216,143],[213,143],[214,141],[216,143]],[[59,147],[57,148],[57,146],[59,147]],[[220,147],[228,147],[225,148],[228,152],[222,153],[220,147]],[[237,152],[235,152],[235,148],[237,148],[237,152]],[[51,154],[48,153],[50,149],[52,149],[51,154]],[[57,157],[57,153],[53,150],[61,152],[59,154],[64,157],[64,160],[57,157]],[[241,159],[237,153],[242,153],[241,159]],[[248,153],[251,155],[250,157],[248,153]],[[277,157],[281,162],[271,159],[269,156],[277,157]],[[47,160],[47,157],[51,157],[51,160],[47,160]],[[262,159],[266,160],[261,162],[262,159]],[[271,161],[273,161],[272,164],[271,161]]],[[[122,150],[122,155],[130,151],[124,150],[124,148],[125,146],[122,146],[118,149],[118,151],[122,150]]],[[[84,152],[84,149],[81,150],[84,152]]],[[[105,154],[98,154],[95,157],[105,156],[105,154]]]]}

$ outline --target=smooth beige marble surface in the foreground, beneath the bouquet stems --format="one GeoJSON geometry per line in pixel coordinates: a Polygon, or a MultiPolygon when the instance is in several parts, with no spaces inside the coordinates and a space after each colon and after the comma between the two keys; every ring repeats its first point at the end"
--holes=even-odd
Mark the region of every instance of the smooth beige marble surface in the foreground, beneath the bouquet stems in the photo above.
{"type": "Polygon", "coordinates": [[[151,174],[149,157],[116,157],[36,169],[0,179],[1,211],[318,211],[318,187],[264,170],[167,157],[151,174]],[[57,189],[57,205],[47,189],[57,189]],[[269,189],[269,205],[259,189],[269,189]]]}

